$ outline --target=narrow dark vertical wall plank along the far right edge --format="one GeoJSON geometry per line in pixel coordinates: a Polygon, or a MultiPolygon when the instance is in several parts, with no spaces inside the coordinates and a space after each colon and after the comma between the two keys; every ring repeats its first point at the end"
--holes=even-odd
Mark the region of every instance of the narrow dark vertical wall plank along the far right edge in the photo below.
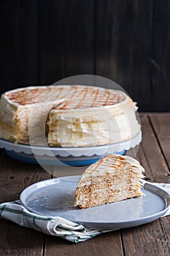
{"type": "Polygon", "coordinates": [[[155,0],[152,110],[170,111],[170,1],[155,0]]]}

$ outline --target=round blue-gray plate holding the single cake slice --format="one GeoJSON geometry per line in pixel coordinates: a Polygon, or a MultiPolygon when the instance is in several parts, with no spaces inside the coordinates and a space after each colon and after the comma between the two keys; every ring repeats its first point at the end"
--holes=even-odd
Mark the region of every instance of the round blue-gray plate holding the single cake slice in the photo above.
{"type": "Polygon", "coordinates": [[[141,197],[86,209],[73,206],[80,176],[40,181],[23,190],[20,202],[28,211],[47,217],[63,217],[85,227],[118,229],[152,222],[162,217],[170,206],[163,189],[145,183],[141,197]]]}

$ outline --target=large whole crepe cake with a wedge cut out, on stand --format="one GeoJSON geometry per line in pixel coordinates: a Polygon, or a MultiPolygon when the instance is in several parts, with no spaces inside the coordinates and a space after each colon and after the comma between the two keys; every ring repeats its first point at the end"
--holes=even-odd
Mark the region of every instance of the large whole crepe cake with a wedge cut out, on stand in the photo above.
{"type": "Polygon", "coordinates": [[[29,144],[45,134],[49,146],[98,146],[140,131],[132,99],[97,86],[15,89],[1,95],[0,108],[0,138],[15,143],[29,144]]]}

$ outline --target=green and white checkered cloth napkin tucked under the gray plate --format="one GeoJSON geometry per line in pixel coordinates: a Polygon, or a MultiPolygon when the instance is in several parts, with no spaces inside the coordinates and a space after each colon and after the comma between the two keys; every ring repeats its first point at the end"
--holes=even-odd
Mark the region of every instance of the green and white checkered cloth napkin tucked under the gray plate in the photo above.
{"type": "MultiPolygon", "coordinates": [[[[155,185],[162,187],[166,190],[166,192],[169,192],[170,195],[170,184],[155,185]]],[[[169,214],[170,209],[164,216],[169,214]]],[[[11,220],[20,226],[31,227],[48,235],[58,236],[74,243],[85,241],[93,238],[94,236],[111,231],[86,229],[83,225],[70,222],[69,220],[63,219],[61,217],[39,216],[37,214],[31,213],[26,208],[21,206],[19,200],[14,202],[1,203],[0,217],[3,219],[11,220]]]]}

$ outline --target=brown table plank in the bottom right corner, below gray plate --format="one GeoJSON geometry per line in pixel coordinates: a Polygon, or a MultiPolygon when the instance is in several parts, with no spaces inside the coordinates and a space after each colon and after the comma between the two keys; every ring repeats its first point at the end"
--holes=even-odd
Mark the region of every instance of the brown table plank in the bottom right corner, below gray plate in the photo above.
{"type": "Polygon", "coordinates": [[[126,256],[169,255],[169,222],[166,217],[166,232],[160,219],[155,222],[122,230],[126,256]]]}

